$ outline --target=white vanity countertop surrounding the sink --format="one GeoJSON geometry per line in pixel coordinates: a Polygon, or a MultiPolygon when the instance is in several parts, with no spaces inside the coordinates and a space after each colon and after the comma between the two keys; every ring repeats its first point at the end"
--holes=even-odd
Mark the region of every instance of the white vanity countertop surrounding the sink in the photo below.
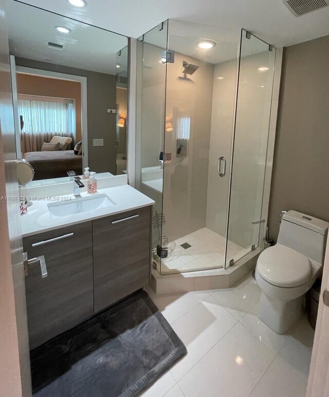
{"type": "MultiPolygon", "coordinates": [[[[71,198],[71,200],[79,200],[79,198],[76,198],[73,194],[66,194],[53,197],[52,200],[51,197],[46,197],[49,198],[49,200],[32,200],[32,206],[28,207],[27,213],[21,216],[23,237],[82,222],[92,221],[94,219],[103,218],[104,216],[114,215],[120,212],[147,207],[155,203],[151,198],[126,184],[98,189],[97,193],[94,193],[93,196],[97,194],[106,194],[116,204],[110,207],[55,217],[49,213],[47,204],[60,202],[61,199],[62,201],[66,201],[67,198],[71,198]]],[[[92,195],[85,191],[81,191],[81,197],[87,196],[90,197],[92,195]]]]}

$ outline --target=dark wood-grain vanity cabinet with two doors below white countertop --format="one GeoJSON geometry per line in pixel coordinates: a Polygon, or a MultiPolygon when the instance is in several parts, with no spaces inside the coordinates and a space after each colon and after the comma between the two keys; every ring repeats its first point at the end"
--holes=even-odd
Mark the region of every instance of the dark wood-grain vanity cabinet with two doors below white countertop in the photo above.
{"type": "Polygon", "coordinates": [[[48,273],[43,278],[35,262],[25,277],[30,349],[148,284],[151,211],[144,207],[23,239],[28,259],[43,255],[48,273]]]}

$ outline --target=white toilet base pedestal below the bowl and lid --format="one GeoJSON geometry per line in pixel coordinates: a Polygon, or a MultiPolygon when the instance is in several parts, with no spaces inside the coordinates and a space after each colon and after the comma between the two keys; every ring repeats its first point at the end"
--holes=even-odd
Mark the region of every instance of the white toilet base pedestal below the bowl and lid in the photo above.
{"type": "Polygon", "coordinates": [[[302,314],[303,295],[290,301],[271,298],[262,292],[258,318],[277,334],[284,334],[302,314]]]}

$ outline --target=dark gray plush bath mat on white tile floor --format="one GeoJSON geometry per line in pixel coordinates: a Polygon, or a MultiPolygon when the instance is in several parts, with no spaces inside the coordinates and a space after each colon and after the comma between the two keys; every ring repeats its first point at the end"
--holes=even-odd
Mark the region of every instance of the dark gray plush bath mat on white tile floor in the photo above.
{"type": "Polygon", "coordinates": [[[148,294],[113,308],[31,351],[37,397],[132,397],[187,353],[148,294]]]}

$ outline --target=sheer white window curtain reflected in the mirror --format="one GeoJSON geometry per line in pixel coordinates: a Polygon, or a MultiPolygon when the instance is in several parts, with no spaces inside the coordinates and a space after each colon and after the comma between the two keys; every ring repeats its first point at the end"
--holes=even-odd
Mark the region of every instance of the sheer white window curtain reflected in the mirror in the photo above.
{"type": "Polygon", "coordinates": [[[75,104],[69,100],[19,100],[19,114],[23,117],[22,152],[40,151],[43,142],[55,135],[75,141],[75,104]]]}

